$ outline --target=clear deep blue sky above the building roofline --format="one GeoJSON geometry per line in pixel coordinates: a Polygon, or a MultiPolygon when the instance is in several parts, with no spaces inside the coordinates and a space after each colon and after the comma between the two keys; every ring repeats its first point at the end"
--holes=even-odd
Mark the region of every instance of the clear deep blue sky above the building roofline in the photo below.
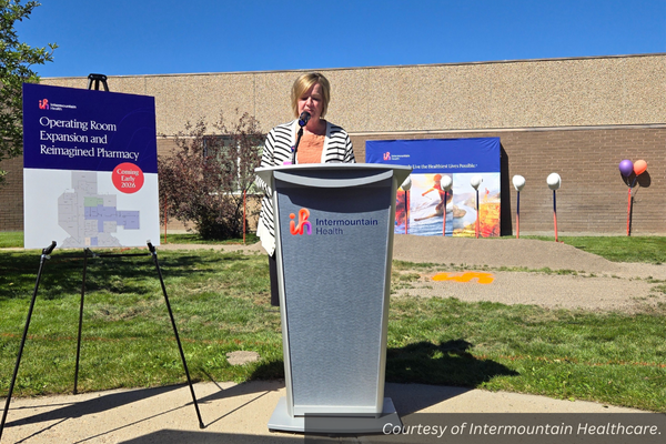
{"type": "Polygon", "coordinates": [[[42,0],[42,77],[234,72],[666,52],[666,0],[42,0]]]}

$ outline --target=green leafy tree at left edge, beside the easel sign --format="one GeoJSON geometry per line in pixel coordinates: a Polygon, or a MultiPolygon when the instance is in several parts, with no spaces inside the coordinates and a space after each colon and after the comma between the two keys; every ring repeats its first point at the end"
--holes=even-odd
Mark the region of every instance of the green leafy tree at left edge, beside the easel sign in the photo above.
{"type": "MultiPolygon", "coordinates": [[[[31,48],[19,41],[14,23],[28,19],[37,1],[0,0],[0,161],[21,154],[23,147],[23,82],[39,81],[30,67],[53,60],[56,43],[31,48]]],[[[0,183],[7,172],[0,170],[0,183]]]]}

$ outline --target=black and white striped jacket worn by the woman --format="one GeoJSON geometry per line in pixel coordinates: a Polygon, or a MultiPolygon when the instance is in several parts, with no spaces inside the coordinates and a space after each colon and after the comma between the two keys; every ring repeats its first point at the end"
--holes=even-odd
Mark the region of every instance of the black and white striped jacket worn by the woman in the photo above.
{"type": "MultiPolygon", "coordinates": [[[[291,163],[291,148],[296,143],[296,132],[299,131],[299,121],[294,120],[273,128],[266,137],[263,153],[261,155],[261,167],[279,167],[285,162],[291,163]]],[[[349,134],[342,128],[326,122],[326,137],[324,139],[324,149],[322,150],[321,163],[356,163],[352,141],[349,134]]],[[[299,158],[296,153],[296,163],[299,158]]],[[[275,251],[275,226],[273,219],[272,190],[263,180],[256,178],[256,183],[264,190],[265,194],[261,201],[261,215],[256,234],[261,240],[264,250],[272,255],[275,251]]]]}

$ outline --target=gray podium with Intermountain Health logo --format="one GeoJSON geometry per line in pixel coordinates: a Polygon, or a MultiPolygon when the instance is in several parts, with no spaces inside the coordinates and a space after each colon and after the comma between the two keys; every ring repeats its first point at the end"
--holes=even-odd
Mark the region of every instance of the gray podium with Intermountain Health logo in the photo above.
{"type": "Polygon", "coordinates": [[[381,164],[256,169],[273,190],[286,396],[269,428],[373,433],[384,397],[395,192],[381,164]]]}

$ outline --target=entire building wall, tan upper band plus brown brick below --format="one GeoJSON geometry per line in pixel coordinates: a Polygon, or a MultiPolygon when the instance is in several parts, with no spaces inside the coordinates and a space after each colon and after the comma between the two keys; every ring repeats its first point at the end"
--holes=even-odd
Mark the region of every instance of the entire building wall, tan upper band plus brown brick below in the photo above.
{"type": "MultiPolygon", "coordinates": [[[[514,231],[516,193],[524,175],[521,232],[552,233],[557,172],[558,229],[571,234],[626,232],[627,185],[622,159],[648,163],[635,189],[633,233],[666,234],[666,54],[518,60],[321,70],[331,80],[326,115],[352,135],[356,159],[369,139],[498,137],[502,159],[502,231],[514,231]]],[[[212,123],[223,112],[254,115],[268,131],[292,119],[289,91],[303,71],[110,77],[112,91],[155,98],[158,134],[186,121],[212,123]]],[[[84,78],[43,83],[85,88],[84,78]]],[[[158,137],[160,155],[173,139],[158,137]]],[[[22,161],[4,161],[0,230],[21,230],[22,161]]],[[[182,230],[178,221],[169,228],[182,230]]]]}

